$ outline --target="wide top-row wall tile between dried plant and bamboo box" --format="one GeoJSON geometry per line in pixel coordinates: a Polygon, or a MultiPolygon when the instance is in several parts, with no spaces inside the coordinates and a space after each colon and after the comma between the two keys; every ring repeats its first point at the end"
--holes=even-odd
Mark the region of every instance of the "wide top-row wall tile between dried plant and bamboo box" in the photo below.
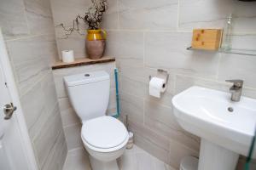
{"type": "Polygon", "coordinates": [[[176,30],[177,0],[119,1],[119,26],[134,30],[176,30]]]}

